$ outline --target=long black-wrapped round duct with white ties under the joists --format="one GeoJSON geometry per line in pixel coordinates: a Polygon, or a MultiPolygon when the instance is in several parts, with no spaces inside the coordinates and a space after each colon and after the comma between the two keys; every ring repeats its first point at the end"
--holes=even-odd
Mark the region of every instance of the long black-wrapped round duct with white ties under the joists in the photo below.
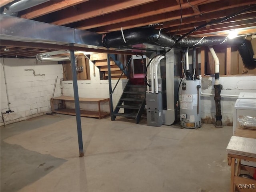
{"type": "MultiPolygon", "coordinates": [[[[152,28],[134,28],[123,31],[111,32],[103,38],[103,43],[106,48],[120,48],[142,43],[157,44],[160,46],[172,47],[176,44],[177,38],[170,37],[164,32],[152,28]],[[124,41],[125,40],[125,41],[124,41]]],[[[256,59],[253,58],[252,44],[243,38],[229,39],[224,36],[210,37],[190,37],[181,39],[175,47],[199,47],[199,46],[238,46],[238,51],[244,62],[244,66],[248,69],[256,68],[256,59]]]]}

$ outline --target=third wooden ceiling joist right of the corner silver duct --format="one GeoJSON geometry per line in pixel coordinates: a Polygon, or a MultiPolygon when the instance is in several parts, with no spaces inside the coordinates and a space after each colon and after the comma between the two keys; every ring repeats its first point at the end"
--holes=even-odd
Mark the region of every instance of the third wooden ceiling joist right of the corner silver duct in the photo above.
{"type": "MultiPolygon", "coordinates": [[[[207,1],[194,1],[193,5],[204,4],[207,1]]],[[[182,7],[188,8],[190,5],[188,3],[183,4],[182,7]]],[[[129,8],[127,10],[118,11],[110,13],[104,16],[98,16],[96,18],[91,18],[76,22],[75,25],[70,25],[74,28],[79,28],[81,30],[86,30],[90,28],[96,28],[100,26],[106,26],[110,24],[116,24],[120,22],[126,22],[130,20],[135,20],[139,18],[145,18],[152,15],[164,14],[167,12],[172,12],[175,10],[180,10],[180,5],[176,5],[174,1],[167,1],[166,3],[152,2],[142,6],[136,6],[134,8],[129,8]],[[131,14],[133,13],[133,14],[131,14]],[[118,15],[118,17],[116,17],[118,15]]]]}

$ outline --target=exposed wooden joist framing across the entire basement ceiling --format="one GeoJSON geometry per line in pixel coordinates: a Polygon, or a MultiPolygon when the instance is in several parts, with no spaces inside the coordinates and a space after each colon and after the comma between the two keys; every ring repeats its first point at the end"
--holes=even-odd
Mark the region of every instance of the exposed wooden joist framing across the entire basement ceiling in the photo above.
{"type": "MultiPolygon", "coordinates": [[[[1,10],[8,3],[13,2],[1,0],[1,10]]],[[[201,24],[255,4],[253,0],[50,0],[18,12],[17,17],[99,34],[152,25],[156,29],[164,28],[170,35],[182,35],[201,24]]],[[[231,29],[241,29],[240,35],[244,36],[256,34],[256,8],[226,22],[208,25],[190,36],[226,36],[231,29]]],[[[4,40],[1,41],[1,57],[34,57],[37,53],[66,48],[64,45],[39,45],[41,47],[31,42],[19,44],[4,40]],[[5,52],[4,48],[10,51],[5,52]]],[[[90,48],[81,49],[91,51],[90,48]]]]}

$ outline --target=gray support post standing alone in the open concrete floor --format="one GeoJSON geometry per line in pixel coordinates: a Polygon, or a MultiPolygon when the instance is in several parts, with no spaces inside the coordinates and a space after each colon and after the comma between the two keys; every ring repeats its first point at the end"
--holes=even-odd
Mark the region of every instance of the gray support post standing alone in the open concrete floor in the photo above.
{"type": "Polygon", "coordinates": [[[83,148],[83,138],[82,138],[78,85],[77,85],[77,77],[76,77],[76,58],[75,58],[74,51],[72,51],[72,50],[70,50],[70,60],[71,60],[74,99],[75,99],[75,107],[76,107],[76,126],[77,126],[77,135],[78,135],[79,156],[83,157],[84,156],[84,148],[83,148]]]}

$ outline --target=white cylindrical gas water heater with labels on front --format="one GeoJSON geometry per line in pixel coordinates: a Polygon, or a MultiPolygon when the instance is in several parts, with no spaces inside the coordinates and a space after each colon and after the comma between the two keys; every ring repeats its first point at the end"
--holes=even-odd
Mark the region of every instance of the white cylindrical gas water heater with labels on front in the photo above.
{"type": "Polygon", "coordinates": [[[184,128],[201,127],[200,79],[182,80],[180,86],[180,125],[184,128]]]}

